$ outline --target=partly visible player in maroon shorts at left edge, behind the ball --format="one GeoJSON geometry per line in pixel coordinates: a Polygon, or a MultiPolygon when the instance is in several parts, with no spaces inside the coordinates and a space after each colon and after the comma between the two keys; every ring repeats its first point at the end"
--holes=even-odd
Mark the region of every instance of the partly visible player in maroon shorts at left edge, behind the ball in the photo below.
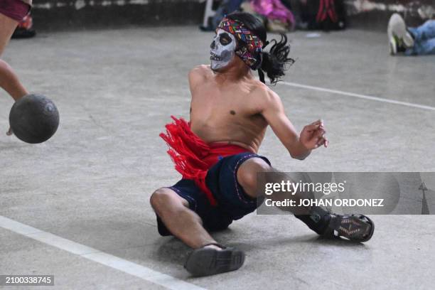
{"type": "MultiPolygon", "coordinates": [[[[2,0],[0,3],[0,57],[11,39],[18,22],[21,21],[31,9],[31,0],[2,0]]],[[[4,60],[0,59],[0,87],[11,95],[14,100],[28,95],[17,75],[4,60]]],[[[9,129],[8,135],[12,134],[9,129]]]]}

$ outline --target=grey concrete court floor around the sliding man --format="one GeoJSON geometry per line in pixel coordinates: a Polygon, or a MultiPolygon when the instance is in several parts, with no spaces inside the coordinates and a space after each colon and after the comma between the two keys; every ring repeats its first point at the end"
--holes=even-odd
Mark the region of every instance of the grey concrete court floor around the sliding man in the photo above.
{"type": "MultiPolygon", "coordinates": [[[[382,33],[289,36],[296,63],[287,82],[435,107],[433,56],[390,57],[382,33]]],[[[158,135],[171,114],[188,117],[187,73],[208,63],[211,37],[165,27],[12,41],[4,59],[29,90],[55,101],[61,120],[45,144],[0,134],[0,216],[205,289],[434,289],[431,215],[374,216],[365,245],[319,239],[291,216],[248,215],[215,235],[246,251],[245,266],[189,277],[189,249],[159,237],[149,196],[179,178],[158,135]]],[[[297,128],[322,118],[331,141],[295,161],[268,131],[260,153],[277,168],[435,171],[435,110],[282,84],[274,90],[297,128]]],[[[11,105],[1,92],[0,131],[11,105]]],[[[164,289],[2,227],[0,245],[0,274],[54,274],[55,289],[164,289]]]]}

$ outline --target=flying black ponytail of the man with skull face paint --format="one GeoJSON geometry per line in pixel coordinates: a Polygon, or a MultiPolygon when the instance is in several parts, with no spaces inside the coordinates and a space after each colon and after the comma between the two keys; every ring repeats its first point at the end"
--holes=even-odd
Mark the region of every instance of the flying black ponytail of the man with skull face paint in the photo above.
{"type": "MultiPolygon", "coordinates": [[[[276,39],[270,41],[273,45],[269,49],[269,52],[262,52],[262,65],[257,69],[259,78],[262,82],[264,82],[263,71],[267,74],[267,77],[269,77],[270,83],[276,84],[276,82],[279,81],[279,78],[285,75],[287,65],[292,65],[294,63],[294,59],[288,57],[290,53],[290,45],[287,44],[287,36],[282,33],[280,35],[280,41],[276,41],[276,39]]],[[[269,41],[264,43],[263,48],[267,45],[269,45],[269,41]]]]}

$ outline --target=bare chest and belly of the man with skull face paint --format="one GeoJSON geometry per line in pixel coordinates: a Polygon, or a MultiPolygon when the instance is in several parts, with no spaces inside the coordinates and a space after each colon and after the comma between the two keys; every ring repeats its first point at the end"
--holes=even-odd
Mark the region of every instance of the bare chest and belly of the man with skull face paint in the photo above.
{"type": "Polygon", "coordinates": [[[257,152],[267,129],[258,92],[267,87],[252,75],[220,82],[205,65],[195,68],[195,74],[202,81],[190,87],[192,131],[208,143],[235,144],[257,152]]]}

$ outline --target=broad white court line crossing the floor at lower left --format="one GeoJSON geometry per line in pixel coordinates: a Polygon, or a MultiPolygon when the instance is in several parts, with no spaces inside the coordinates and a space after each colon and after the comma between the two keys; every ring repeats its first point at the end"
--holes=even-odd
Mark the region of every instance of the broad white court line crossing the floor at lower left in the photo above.
{"type": "Polygon", "coordinates": [[[57,247],[67,252],[77,254],[80,257],[103,264],[104,266],[117,269],[124,273],[144,279],[146,281],[150,281],[154,284],[159,284],[168,289],[205,290],[200,286],[190,284],[181,279],[174,278],[173,276],[169,276],[149,269],[147,267],[141,266],[139,264],[129,262],[125,259],[115,257],[112,254],[101,252],[98,249],[94,249],[92,247],[81,245],[77,242],[66,240],[63,237],[50,234],[50,232],[44,232],[43,230],[38,230],[35,227],[24,225],[21,222],[16,222],[15,220],[11,220],[2,215],[0,215],[0,227],[5,228],[6,230],[11,230],[12,232],[16,232],[20,235],[30,237],[33,240],[43,242],[46,245],[57,247]]]}

